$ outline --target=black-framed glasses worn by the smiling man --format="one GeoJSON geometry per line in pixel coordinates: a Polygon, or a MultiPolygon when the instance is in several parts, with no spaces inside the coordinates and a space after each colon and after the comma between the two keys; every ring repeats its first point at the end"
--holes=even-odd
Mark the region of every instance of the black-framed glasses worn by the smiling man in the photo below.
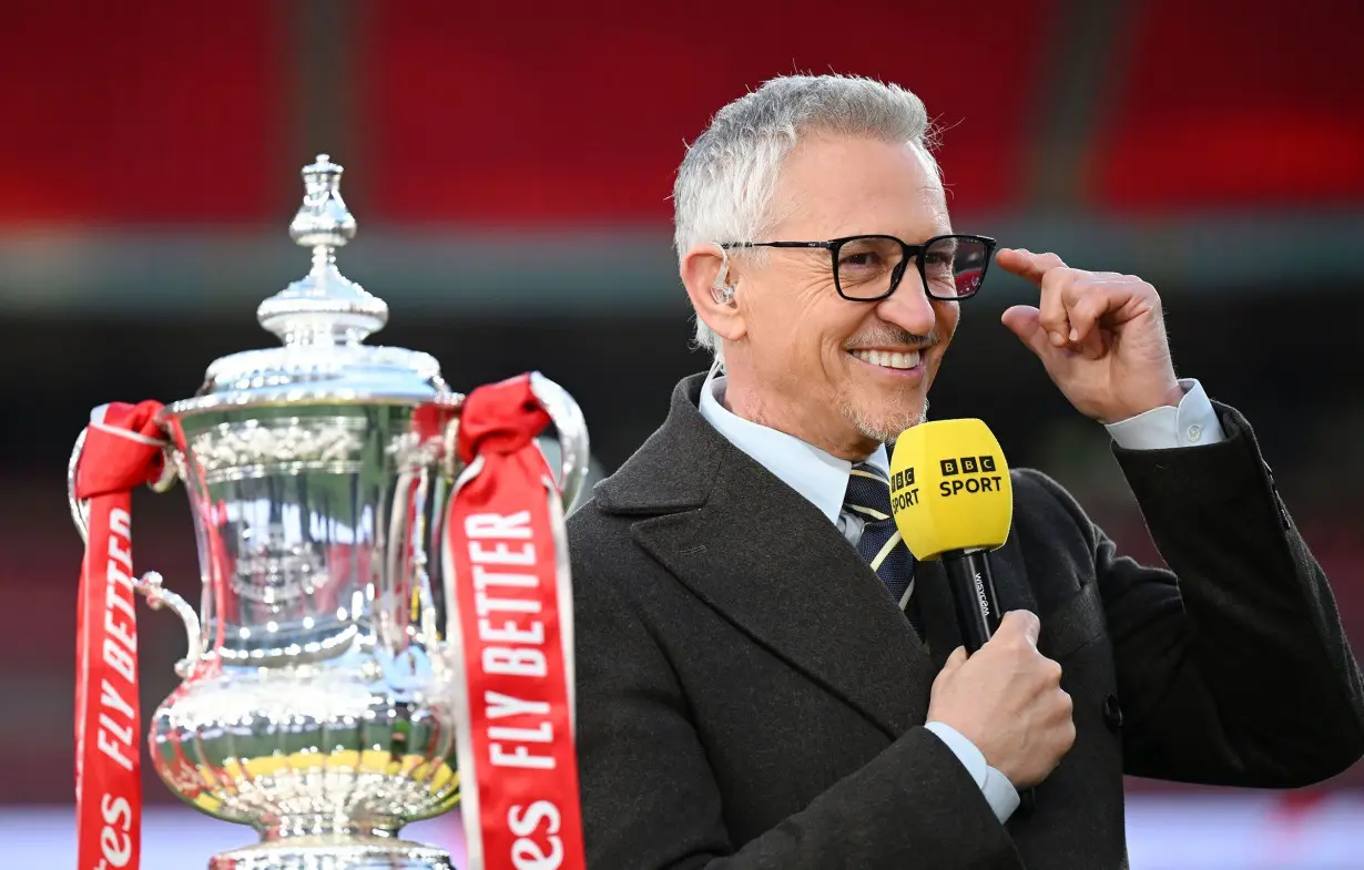
{"type": "Polygon", "coordinates": [[[923,244],[907,244],[895,236],[844,236],[829,241],[727,241],[720,247],[824,248],[839,296],[859,303],[888,297],[914,263],[929,299],[960,301],[975,296],[985,282],[994,239],[934,236],[923,244]]]}

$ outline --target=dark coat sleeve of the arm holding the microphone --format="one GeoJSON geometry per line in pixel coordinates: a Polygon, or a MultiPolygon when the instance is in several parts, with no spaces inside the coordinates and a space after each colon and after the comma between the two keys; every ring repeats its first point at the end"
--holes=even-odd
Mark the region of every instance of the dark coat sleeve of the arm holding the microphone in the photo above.
{"type": "Polygon", "coordinates": [[[731,841],[722,790],[664,649],[604,577],[622,570],[619,560],[577,543],[577,749],[589,867],[1022,870],[975,781],[922,727],[771,830],[731,841]]]}

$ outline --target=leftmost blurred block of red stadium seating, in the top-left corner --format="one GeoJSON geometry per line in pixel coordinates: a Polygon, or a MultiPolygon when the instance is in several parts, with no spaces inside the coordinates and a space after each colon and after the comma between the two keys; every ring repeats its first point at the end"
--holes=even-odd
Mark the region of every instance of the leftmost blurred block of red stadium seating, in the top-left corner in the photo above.
{"type": "Polygon", "coordinates": [[[278,220],[300,164],[282,11],[7,4],[0,225],[278,220]]]}

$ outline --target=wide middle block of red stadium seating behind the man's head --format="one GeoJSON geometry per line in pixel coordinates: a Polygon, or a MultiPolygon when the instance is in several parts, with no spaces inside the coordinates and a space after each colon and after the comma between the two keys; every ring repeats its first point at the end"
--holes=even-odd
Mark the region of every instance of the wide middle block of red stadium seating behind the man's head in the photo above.
{"type": "Polygon", "coordinates": [[[531,3],[510,18],[495,5],[372,4],[359,29],[372,206],[402,221],[663,221],[683,142],[715,109],[773,75],[828,70],[919,93],[948,128],[952,206],[1005,206],[1020,190],[1052,7],[531,3]]]}

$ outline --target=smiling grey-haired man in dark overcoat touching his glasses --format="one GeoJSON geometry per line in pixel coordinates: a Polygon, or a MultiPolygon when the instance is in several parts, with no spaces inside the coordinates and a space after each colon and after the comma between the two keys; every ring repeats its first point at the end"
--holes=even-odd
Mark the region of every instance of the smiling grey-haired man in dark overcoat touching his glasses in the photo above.
{"type": "Polygon", "coordinates": [[[724,375],[679,383],[569,524],[593,867],[1123,867],[1124,773],[1282,788],[1364,753],[1359,667],[1249,425],[1176,379],[1148,284],[1054,254],[998,251],[1039,288],[1004,323],[1108,427],[1173,573],[1015,470],[1011,612],[956,648],[940,565],[881,520],[885,443],[993,252],[955,235],[925,131],[899,87],[792,76],[682,164],[681,275],[724,375]]]}

